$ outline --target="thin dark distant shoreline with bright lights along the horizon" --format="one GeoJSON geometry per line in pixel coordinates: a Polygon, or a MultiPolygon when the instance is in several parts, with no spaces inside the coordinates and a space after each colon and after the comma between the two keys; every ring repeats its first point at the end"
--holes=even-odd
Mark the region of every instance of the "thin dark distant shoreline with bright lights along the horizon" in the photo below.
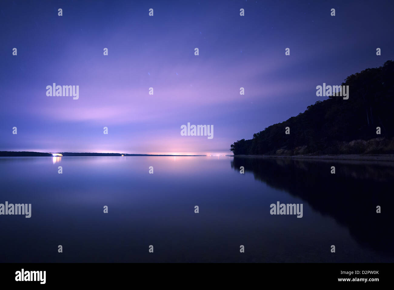
{"type": "MultiPolygon", "coordinates": [[[[54,152],[55,153],[55,152],[54,152]]],[[[126,153],[73,153],[73,152],[56,152],[60,153],[60,157],[71,156],[206,156],[206,155],[161,155],[161,154],[126,154],[126,153]]],[[[30,152],[30,151],[0,151],[0,157],[54,157],[52,153],[30,152]]],[[[57,156],[55,156],[57,157],[57,156]]]]}

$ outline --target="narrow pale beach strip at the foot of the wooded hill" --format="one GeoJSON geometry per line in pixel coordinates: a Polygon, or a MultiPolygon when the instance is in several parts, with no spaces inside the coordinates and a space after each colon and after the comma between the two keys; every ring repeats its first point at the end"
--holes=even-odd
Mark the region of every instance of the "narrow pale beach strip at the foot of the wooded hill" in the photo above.
{"type": "Polygon", "coordinates": [[[351,161],[394,161],[394,154],[343,154],[343,155],[234,155],[234,157],[251,158],[288,158],[288,159],[315,159],[315,160],[351,160],[351,161]]]}

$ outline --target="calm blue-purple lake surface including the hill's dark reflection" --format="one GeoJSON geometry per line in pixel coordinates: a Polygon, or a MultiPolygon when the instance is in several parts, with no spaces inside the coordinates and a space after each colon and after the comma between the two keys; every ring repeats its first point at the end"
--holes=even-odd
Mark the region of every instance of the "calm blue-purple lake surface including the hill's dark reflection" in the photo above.
{"type": "Polygon", "coordinates": [[[390,162],[0,157],[0,183],[32,204],[0,215],[0,262],[394,262],[390,162]]]}

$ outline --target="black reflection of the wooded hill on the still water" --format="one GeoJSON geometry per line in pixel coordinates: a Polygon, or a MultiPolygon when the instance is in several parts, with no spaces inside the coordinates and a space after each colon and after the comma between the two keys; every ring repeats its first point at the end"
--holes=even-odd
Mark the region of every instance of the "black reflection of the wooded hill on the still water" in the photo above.
{"type": "Polygon", "coordinates": [[[333,217],[363,247],[394,255],[392,163],[234,157],[231,167],[239,171],[241,166],[245,174],[251,172],[256,180],[333,217]],[[376,213],[376,206],[381,206],[381,213],[376,213]]]}

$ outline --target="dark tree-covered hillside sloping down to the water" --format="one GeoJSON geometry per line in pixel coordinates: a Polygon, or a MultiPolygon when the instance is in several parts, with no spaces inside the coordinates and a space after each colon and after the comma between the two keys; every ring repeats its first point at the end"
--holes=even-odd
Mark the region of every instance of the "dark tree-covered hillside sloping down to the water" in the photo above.
{"type": "Polygon", "coordinates": [[[328,99],[253,134],[253,139],[234,142],[230,151],[234,156],[393,161],[393,79],[392,60],[350,75],[342,83],[349,88],[348,99],[327,94],[328,99]]]}

